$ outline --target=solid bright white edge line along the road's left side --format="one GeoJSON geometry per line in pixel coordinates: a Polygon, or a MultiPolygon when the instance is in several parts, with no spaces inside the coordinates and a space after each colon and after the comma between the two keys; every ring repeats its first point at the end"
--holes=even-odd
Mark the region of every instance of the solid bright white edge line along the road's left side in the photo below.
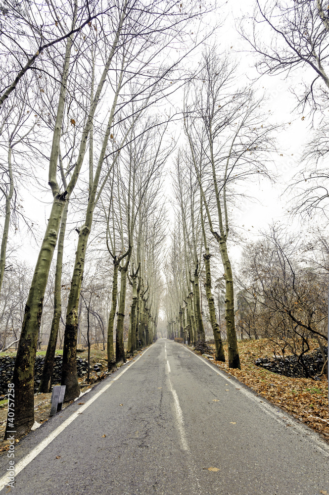
{"type": "MultiPolygon", "coordinates": [[[[79,411],[74,412],[61,425],[59,425],[52,433],[50,433],[50,435],[48,435],[39,445],[34,447],[30,453],[28,453],[25,457],[23,457],[22,460],[20,460],[17,464],[15,464],[15,478],[22,471],[22,469],[24,469],[31,461],[33,461],[33,459],[35,459],[35,457],[37,457],[37,455],[40,454],[40,452],[42,452],[56,437],[58,437],[58,435],[63,430],[65,430],[65,428],[67,426],[69,426],[72,423],[72,421],[74,421],[85,409],[87,409],[87,407],[89,407],[103,392],[105,392],[105,390],[107,390],[109,387],[111,387],[112,383],[114,383],[116,380],[118,380],[129,369],[130,365],[132,365],[134,362],[137,362],[141,358],[141,356],[146,352],[146,350],[148,351],[149,348],[152,346],[153,346],[153,344],[151,344],[149,347],[147,347],[147,349],[145,349],[139,355],[139,357],[137,357],[134,361],[133,360],[129,361],[129,364],[127,364],[125,369],[123,371],[121,371],[121,373],[119,373],[118,376],[116,376],[109,384],[102,387],[101,390],[94,395],[94,397],[89,399],[88,402],[86,402],[86,404],[84,406],[79,408],[79,411]]],[[[4,476],[2,476],[2,478],[0,478],[0,492],[6,486],[8,486],[8,475],[7,474],[5,474],[4,476]]]]}

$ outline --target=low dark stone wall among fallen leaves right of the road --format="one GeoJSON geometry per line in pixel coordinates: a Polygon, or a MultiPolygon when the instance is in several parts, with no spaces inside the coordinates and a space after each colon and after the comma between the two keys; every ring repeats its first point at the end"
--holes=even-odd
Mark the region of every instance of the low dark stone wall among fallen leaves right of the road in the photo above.
{"type": "MultiPolygon", "coordinates": [[[[327,358],[328,347],[325,347],[324,351],[327,358]]],[[[320,347],[313,352],[304,354],[303,362],[304,365],[307,366],[308,375],[316,378],[316,376],[321,373],[324,364],[320,347]]],[[[292,378],[300,378],[301,376],[305,378],[307,376],[305,369],[303,370],[302,365],[297,362],[296,356],[286,356],[284,361],[280,357],[272,359],[269,359],[268,357],[259,357],[256,359],[255,365],[272,371],[273,373],[292,378]]]]}

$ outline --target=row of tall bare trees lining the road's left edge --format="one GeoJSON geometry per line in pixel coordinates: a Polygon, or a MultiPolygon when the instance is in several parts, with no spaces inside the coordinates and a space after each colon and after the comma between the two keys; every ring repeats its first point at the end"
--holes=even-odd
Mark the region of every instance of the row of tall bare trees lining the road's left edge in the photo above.
{"type": "Polygon", "coordinates": [[[72,0],[56,4],[9,0],[1,5],[1,11],[1,49],[8,63],[1,74],[0,105],[8,159],[3,165],[7,182],[2,188],[5,224],[0,282],[6,268],[10,213],[18,186],[14,176],[19,175],[20,166],[27,171],[28,155],[24,154],[24,161],[19,155],[27,145],[32,149],[33,162],[38,163],[34,169],[37,180],[43,176],[42,167],[47,166],[53,198],[25,305],[13,374],[15,430],[24,432],[34,423],[34,362],[58,240],[54,311],[40,390],[48,390],[50,385],[61,318],[68,215],[75,215],[79,223],[63,342],[65,400],[80,394],[76,369],[79,301],[95,223],[97,235],[103,233],[113,260],[109,367],[114,360],[126,359],[123,322],[127,281],[133,289],[128,353],[134,351],[138,341],[149,343],[155,338],[158,255],[163,235],[163,229],[157,228],[163,218],[157,195],[160,170],[168,154],[161,147],[165,132],[161,120],[167,122],[168,116],[158,116],[156,105],[159,107],[183,84],[181,61],[195,46],[191,48],[188,43],[188,22],[199,18],[204,10],[199,3],[182,8],[158,0],[72,0]]]}

